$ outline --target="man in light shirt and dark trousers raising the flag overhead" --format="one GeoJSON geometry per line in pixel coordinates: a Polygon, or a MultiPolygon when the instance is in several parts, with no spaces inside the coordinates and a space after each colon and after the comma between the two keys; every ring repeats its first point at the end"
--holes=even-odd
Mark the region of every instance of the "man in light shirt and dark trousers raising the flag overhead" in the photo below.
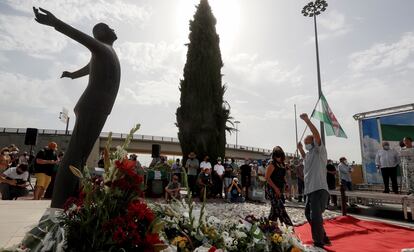
{"type": "Polygon", "coordinates": [[[304,179],[306,206],[305,216],[308,220],[312,239],[315,247],[324,248],[331,245],[323,227],[322,214],[329,200],[328,183],[326,181],[326,164],[328,157],[326,148],[321,141],[319,131],[311,122],[307,114],[301,114],[300,118],[307,124],[312,132],[304,139],[307,153],[303,150],[302,143],[298,143],[298,150],[304,159],[304,179]]]}

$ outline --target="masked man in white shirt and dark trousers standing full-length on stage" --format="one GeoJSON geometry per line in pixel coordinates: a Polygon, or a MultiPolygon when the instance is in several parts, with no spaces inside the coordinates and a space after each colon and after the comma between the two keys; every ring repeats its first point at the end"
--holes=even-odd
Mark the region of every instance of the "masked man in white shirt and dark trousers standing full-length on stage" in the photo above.
{"type": "Polygon", "coordinates": [[[390,192],[389,180],[391,179],[392,191],[398,194],[397,168],[400,164],[400,156],[396,150],[390,148],[389,142],[382,142],[382,150],[378,150],[375,164],[378,171],[381,170],[384,193],[390,192]]]}

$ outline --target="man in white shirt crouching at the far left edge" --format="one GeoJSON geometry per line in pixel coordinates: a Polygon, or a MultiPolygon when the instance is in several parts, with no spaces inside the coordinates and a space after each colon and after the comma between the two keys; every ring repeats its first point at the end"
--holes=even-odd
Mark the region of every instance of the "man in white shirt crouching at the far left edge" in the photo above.
{"type": "Polygon", "coordinates": [[[13,200],[29,192],[26,189],[29,172],[27,164],[11,167],[0,175],[0,192],[2,200],[13,200]]]}

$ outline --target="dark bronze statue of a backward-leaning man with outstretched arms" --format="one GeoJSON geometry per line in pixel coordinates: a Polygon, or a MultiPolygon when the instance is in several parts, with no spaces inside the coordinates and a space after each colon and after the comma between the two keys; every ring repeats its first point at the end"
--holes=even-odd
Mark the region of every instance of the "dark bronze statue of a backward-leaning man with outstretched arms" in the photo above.
{"type": "Polygon", "coordinates": [[[118,93],[121,68],[112,47],[117,37],[114,30],[104,23],[94,26],[91,37],[45,9],[33,7],[33,11],[37,22],[54,27],[84,45],[92,54],[85,67],[75,72],[65,71],[61,76],[75,79],[89,75],[88,86],[74,109],[75,126],[56,177],[51,207],[61,208],[69,197],[76,196],[79,187],[79,179],[70,172],[69,165],[83,169],[118,93]]]}

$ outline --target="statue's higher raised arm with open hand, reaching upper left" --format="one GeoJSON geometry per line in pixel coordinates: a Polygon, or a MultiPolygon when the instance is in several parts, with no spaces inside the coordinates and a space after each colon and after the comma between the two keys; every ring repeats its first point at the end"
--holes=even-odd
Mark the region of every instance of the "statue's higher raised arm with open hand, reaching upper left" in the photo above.
{"type": "Polygon", "coordinates": [[[33,7],[33,12],[35,14],[35,20],[38,23],[54,27],[57,31],[65,34],[66,36],[84,45],[90,51],[96,51],[99,50],[100,47],[102,47],[102,44],[97,42],[93,37],[59,20],[50,11],[40,7],[39,9],[33,7]]]}

